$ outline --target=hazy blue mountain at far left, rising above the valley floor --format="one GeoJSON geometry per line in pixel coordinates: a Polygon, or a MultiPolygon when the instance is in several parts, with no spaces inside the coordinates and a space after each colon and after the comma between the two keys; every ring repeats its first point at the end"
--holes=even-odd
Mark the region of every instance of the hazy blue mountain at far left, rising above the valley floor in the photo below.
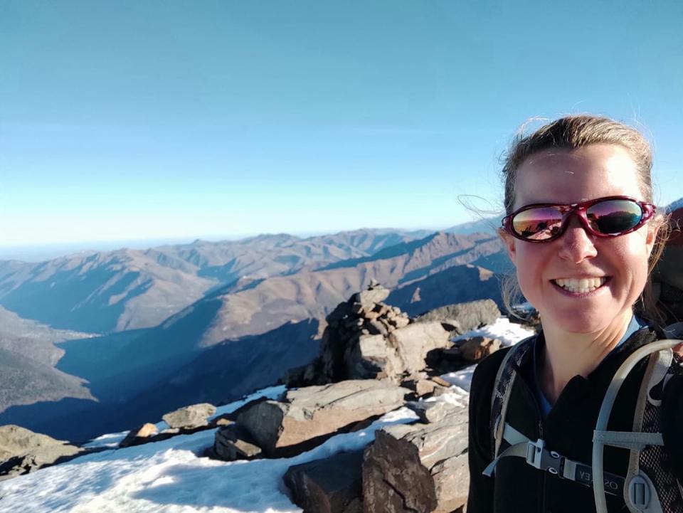
{"type": "Polygon", "coordinates": [[[0,304],[53,327],[110,332],[159,324],[211,285],[184,260],[118,250],[48,260],[0,277],[0,304]]]}

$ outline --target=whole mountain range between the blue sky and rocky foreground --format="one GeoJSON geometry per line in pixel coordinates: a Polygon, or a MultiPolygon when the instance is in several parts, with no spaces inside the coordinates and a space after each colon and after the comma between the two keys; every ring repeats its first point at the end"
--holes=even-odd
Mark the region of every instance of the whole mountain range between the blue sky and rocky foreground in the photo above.
{"type": "MultiPolygon", "coordinates": [[[[208,400],[209,389],[212,402],[228,401],[312,359],[327,313],[370,280],[393,289],[393,304],[412,313],[462,298],[499,300],[494,272],[506,265],[490,233],[391,230],[0,262],[0,304],[53,330],[52,360],[41,372],[61,391],[13,385],[0,423],[84,439],[208,400]],[[178,385],[187,382],[196,386],[178,385]]],[[[29,365],[36,351],[13,347],[26,376],[39,374],[29,365]]]]}

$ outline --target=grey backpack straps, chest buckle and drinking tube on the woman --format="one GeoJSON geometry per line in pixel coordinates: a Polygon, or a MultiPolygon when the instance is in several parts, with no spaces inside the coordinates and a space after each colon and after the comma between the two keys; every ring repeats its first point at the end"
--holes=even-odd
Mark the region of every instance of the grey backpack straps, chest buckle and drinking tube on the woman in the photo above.
{"type": "Polygon", "coordinates": [[[620,366],[605,393],[598,423],[593,432],[592,466],[563,457],[545,446],[544,440],[534,442],[505,421],[512,385],[524,355],[533,347],[529,337],[510,349],[498,369],[491,398],[491,447],[493,461],[484,470],[491,476],[501,458],[524,458],[536,469],[550,472],[563,479],[593,487],[597,513],[606,513],[605,493],[623,497],[630,513],[683,513],[683,487],[665,467],[664,440],[660,429],[661,392],[667,381],[680,371],[680,359],[674,357],[672,347],[681,343],[683,323],[664,329],[665,340],[645,344],[631,354],[620,366]],[[676,337],[677,339],[674,339],[676,337]],[[628,373],[638,361],[653,354],[638,393],[633,430],[618,432],[605,430],[617,393],[628,373]],[[652,395],[652,392],[655,396],[652,395]],[[503,440],[509,447],[501,452],[503,440]],[[626,476],[603,472],[604,445],[630,450],[626,476]],[[602,476],[602,479],[600,479],[602,476]]]}

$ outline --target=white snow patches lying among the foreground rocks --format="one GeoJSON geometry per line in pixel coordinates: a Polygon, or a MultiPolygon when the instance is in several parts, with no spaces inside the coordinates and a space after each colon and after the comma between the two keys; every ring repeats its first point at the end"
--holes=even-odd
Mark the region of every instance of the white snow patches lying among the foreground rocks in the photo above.
{"type": "MultiPolygon", "coordinates": [[[[531,334],[499,319],[470,332],[514,344],[531,334]]],[[[444,376],[450,393],[428,401],[466,404],[474,366],[444,376]]],[[[229,413],[260,396],[275,398],[283,386],[265,388],[241,401],[221,406],[216,415],[229,413]]],[[[13,513],[290,513],[302,510],[287,496],[282,475],[292,465],[356,450],[374,440],[376,430],[417,419],[408,408],[387,413],[369,428],[334,436],[317,448],[294,458],[221,462],[201,458],[213,445],[216,430],[180,435],[162,442],[124,449],[105,449],[62,465],[0,482],[0,511],[13,513]]],[[[166,427],[159,423],[159,428],[166,427]]],[[[110,448],[126,433],[103,435],[90,447],[110,448]]]]}

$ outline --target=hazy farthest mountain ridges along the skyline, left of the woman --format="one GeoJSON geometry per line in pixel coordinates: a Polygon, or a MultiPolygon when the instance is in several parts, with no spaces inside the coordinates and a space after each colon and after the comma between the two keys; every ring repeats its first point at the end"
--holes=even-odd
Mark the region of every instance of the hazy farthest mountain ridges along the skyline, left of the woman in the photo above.
{"type": "Polygon", "coordinates": [[[418,235],[423,232],[366,230],[305,239],[277,234],[83,253],[37,264],[4,260],[0,305],[62,329],[107,333],[153,327],[240,277],[287,275],[367,257],[418,235]]]}

